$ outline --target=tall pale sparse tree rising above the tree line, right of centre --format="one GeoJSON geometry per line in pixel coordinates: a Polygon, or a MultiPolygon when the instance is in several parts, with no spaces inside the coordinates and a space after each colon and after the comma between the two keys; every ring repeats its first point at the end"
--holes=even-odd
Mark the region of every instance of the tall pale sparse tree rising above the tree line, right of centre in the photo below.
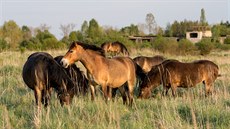
{"type": "Polygon", "coordinates": [[[152,13],[148,13],[145,18],[146,26],[149,30],[149,34],[156,34],[157,33],[157,23],[155,21],[155,17],[152,13]]]}

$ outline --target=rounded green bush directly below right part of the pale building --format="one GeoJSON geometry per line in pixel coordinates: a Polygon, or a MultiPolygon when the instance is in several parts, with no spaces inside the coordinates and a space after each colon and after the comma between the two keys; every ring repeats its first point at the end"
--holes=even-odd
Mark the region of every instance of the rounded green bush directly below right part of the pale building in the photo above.
{"type": "Polygon", "coordinates": [[[199,43],[196,43],[196,46],[201,55],[207,55],[215,48],[211,39],[202,39],[199,43]]]}

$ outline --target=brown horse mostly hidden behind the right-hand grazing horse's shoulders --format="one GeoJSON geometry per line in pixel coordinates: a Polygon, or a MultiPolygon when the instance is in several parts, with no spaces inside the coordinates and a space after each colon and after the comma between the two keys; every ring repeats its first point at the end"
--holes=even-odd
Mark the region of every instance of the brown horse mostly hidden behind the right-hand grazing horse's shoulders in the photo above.
{"type": "Polygon", "coordinates": [[[137,56],[133,60],[144,70],[145,73],[149,72],[153,66],[162,63],[165,58],[160,55],[153,57],[137,56]]]}

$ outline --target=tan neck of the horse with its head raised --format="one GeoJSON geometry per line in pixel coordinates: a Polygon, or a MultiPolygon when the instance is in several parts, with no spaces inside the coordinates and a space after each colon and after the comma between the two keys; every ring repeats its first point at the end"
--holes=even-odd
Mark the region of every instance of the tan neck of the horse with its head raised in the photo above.
{"type": "Polygon", "coordinates": [[[89,73],[93,73],[94,71],[98,71],[98,65],[96,64],[97,61],[102,60],[102,55],[99,55],[96,52],[90,52],[86,51],[84,54],[82,54],[82,58],[80,59],[80,62],[84,65],[84,67],[89,71],[89,73]]]}

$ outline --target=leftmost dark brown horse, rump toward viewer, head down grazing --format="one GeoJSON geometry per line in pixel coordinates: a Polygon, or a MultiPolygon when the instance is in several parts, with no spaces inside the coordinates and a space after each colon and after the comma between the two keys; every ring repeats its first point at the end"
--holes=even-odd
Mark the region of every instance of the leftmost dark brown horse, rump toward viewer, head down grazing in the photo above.
{"type": "Polygon", "coordinates": [[[41,103],[48,106],[52,88],[58,93],[61,105],[70,103],[67,88],[74,87],[73,82],[67,76],[63,67],[44,52],[31,54],[23,66],[22,77],[25,84],[34,90],[34,96],[38,108],[41,103]]]}

